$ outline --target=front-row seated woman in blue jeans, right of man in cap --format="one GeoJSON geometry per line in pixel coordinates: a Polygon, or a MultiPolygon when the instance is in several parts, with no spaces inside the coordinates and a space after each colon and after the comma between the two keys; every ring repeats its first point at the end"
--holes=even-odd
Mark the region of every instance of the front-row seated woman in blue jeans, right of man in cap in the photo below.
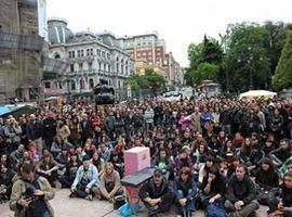
{"type": "Polygon", "coordinates": [[[183,167],[173,182],[173,190],[177,200],[177,212],[183,217],[190,217],[195,212],[195,199],[198,188],[188,167],[183,167]]]}

